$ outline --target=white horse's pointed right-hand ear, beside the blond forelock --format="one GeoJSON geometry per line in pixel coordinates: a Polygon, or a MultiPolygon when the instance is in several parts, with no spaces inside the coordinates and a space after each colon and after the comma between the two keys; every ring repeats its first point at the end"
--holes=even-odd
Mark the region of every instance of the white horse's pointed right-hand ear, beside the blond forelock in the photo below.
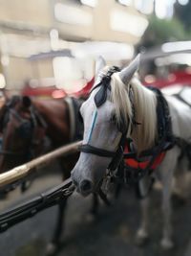
{"type": "Polygon", "coordinates": [[[127,67],[123,68],[118,73],[119,78],[124,84],[128,84],[131,81],[132,77],[138,70],[139,62],[140,62],[140,54],[138,54],[138,56],[134,58],[127,67]]]}

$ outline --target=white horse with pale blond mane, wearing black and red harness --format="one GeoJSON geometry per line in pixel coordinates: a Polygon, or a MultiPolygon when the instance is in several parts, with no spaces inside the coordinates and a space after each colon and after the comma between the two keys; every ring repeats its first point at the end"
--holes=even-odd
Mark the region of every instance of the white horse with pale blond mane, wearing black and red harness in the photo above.
{"type": "MultiPolygon", "coordinates": [[[[120,144],[122,128],[126,137],[134,141],[138,155],[154,147],[159,139],[156,110],[158,97],[154,91],[143,86],[135,78],[138,65],[139,57],[121,71],[114,73],[105,86],[103,78],[108,74],[109,68],[105,66],[102,58],[96,62],[96,84],[89,99],[80,109],[84,121],[83,144],[86,145],[87,151],[81,151],[72,172],[77,191],[83,196],[96,191],[100,180],[106,175],[113,153],[120,144]],[[135,125],[134,120],[139,125],[135,125]]],[[[186,89],[186,95],[190,100],[191,88],[186,89]]],[[[191,108],[175,97],[165,96],[165,99],[169,107],[173,135],[184,141],[190,140],[191,108]]],[[[166,151],[155,170],[162,182],[163,248],[173,246],[170,197],[173,175],[179,167],[179,156],[180,147],[175,145],[166,151]]],[[[182,161],[183,159],[186,157],[182,158],[182,161]]],[[[185,164],[182,166],[187,167],[185,164]]],[[[148,197],[141,200],[142,221],[138,229],[140,241],[149,235],[148,203],[148,197]]]]}

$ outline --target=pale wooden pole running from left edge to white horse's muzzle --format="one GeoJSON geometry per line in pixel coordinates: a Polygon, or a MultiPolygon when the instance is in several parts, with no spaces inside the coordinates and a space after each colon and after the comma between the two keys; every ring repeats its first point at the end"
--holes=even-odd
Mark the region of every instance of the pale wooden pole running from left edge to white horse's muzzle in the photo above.
{"type": "Polygon", "coordinates": [[[55,151],[51,151],[47,154],[39,156],[32,161],[17,166],[11,171],[8,171],[0,175],[0,187],[10,184],[11,182],[18,180],[26,175],[29,175],[32,172],[32,169],[39,167],[39,165],[47,164],[58,156],[66,156],[68,154],[74,153],[78,150],[78,147],[81,145],[82,141],[74,142],[72,144],[63,146],[55,151]]]}

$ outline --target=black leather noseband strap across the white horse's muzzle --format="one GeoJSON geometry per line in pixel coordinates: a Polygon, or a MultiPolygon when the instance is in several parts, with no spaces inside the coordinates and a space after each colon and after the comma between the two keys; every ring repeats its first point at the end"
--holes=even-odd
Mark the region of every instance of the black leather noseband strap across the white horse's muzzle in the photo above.
{"type": "Polygon", "coordinates": [[[96,147],[93,147],[89,144],[83,144],[79,147],[79,151],[86,152],[86,153],[93,153],[98,156],[103,156],[103,157],[114,157],[116,155],[115,151],[106,151],[102,150],[96,147]]]}

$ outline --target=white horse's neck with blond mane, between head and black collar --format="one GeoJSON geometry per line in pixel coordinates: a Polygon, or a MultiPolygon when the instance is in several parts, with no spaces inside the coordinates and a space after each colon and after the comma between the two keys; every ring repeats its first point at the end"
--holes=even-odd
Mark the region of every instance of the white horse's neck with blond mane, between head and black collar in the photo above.
{"type": "Polygon", "coordinates": [[[155,93],[133,81],[132,87],[135,97],[135,117],[140,125],[135,125],[132,139],[138,153],[148,150],[155,145],[157,139],[157,97],[155,93]]]}

